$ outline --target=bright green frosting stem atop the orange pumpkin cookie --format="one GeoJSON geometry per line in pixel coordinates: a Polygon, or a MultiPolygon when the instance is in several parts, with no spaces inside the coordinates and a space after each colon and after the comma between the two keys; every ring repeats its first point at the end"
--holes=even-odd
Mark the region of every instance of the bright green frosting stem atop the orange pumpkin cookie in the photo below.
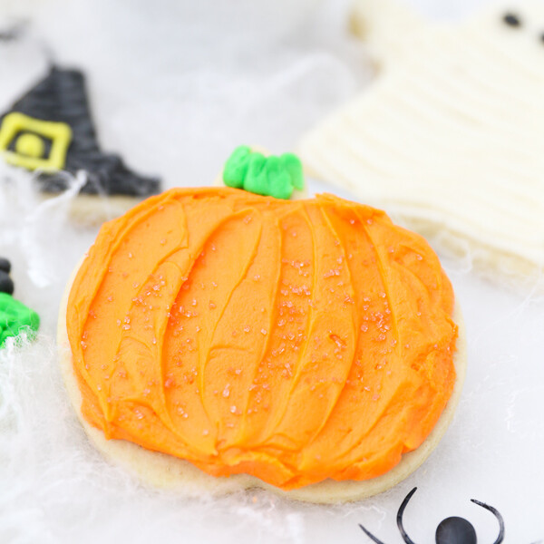
{"type": "Polygon", "coordinates": [[[294,189],[304,189],[302,163],[296,155],[265,157],[246,145],[240,145],[228,158],[223,181],[228,187],[276,199],[290,199],[294,189]]]}

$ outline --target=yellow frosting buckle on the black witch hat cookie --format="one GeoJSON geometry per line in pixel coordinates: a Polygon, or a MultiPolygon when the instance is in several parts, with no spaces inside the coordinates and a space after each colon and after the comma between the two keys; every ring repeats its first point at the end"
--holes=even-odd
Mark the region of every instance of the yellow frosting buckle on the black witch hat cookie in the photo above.
{"type": "Polygon", "coordinates": [[[27,170],[63,170],[72,130],[63,122],[41,121],[24,113],[8,113],[0,128],[0,151],[5,160],[27,170]],[[44,139],[51,141],[49,156],[44,157],[44,139]],[[10,144],[15,141],[15,151],[10,144]]]}

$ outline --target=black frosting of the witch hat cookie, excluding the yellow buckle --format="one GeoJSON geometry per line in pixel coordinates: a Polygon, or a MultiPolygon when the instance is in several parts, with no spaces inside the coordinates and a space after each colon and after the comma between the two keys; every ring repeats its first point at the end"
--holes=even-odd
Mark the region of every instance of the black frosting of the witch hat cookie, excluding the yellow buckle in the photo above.
{"type": "MultiPolygon", "coordinates": [[[[83,193],[147,197],[160,191],[158,179],[134,173],[119,155],[104,153],[100,149],[85,78],[79,70],[53,66],[41,82],[0,117],[0,121],[10,112],[21,112],[43,121],[60,121],[70,126],[73,136],[64,168],[72,173],[78,170],[87,172],[83,193]]],[[[44,143],[47,151],[48,142],[44,143]]],[[[67,188],[67,181],[59,174],[41,174],[39,181],[45,192],[61,192],[67,188]]]]}

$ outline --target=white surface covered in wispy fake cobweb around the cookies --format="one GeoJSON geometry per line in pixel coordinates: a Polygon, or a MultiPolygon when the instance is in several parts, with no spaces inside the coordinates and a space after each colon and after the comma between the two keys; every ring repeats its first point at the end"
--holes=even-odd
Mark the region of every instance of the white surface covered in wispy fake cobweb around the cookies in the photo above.
{"type": "MultiPolygon", "coordinates": [[[[446,21],[481,4],[410,3],[446,21]]],[[[0,20],[23,18],[36,51],[47,44],[58,63],[83,67],[104,149],[172,187],[209,184],[240,142],[287,151],[371,82],[364,48],[345,34],[348,5],[3,0],[0,20]]],[[[267,493],[185,500],[144,489],[103,461],[65,399],[56,308],[95,234],[74,227],[65,208],[63,199],[40,204],[24,176],[16,187],[0,183],[0,255],[14,262],[18,297],[43,316],[37,343],[0,353],[1,542],[364,543],[363,523],[393,544],[402,541],[396,510],[413,486],[405,527],[415,542],[432,541],[451,515],[493,542],[497,522],[472,498],[500,510],[505,542],[544,540],[542,296],[481,278],[470,256],[444,258],[466,319],[466,384],[437,450],[392,491],[329,508],[267,493]]]]}

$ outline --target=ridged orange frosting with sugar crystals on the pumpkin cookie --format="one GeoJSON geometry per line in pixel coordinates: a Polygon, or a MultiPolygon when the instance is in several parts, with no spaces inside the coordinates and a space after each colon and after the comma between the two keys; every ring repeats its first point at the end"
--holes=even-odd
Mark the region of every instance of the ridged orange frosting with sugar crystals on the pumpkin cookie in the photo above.
{"type": "Polygon", "coordinates": [[[172,189],[102,227],[66,325],[107,438],[288,490],[423,442],[455,382],[452,308],[432,249],[383,211],[172,189]]]}

